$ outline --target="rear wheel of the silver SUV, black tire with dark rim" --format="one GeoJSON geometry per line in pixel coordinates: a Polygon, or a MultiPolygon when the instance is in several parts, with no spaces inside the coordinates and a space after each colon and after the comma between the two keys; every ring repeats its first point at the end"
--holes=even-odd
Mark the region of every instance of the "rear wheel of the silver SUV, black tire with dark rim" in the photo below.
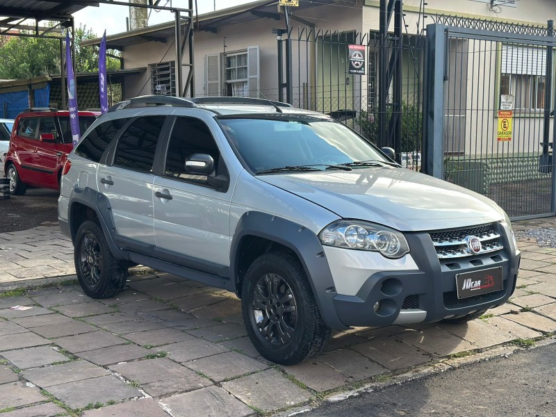
{"type": "Polygon", "coordinates": [[[89,297],[113,297],[126,284],[126,263],[111,254],[96,222],[85,220],[77,230],[74,261],[79,284],[89,297]]]}

